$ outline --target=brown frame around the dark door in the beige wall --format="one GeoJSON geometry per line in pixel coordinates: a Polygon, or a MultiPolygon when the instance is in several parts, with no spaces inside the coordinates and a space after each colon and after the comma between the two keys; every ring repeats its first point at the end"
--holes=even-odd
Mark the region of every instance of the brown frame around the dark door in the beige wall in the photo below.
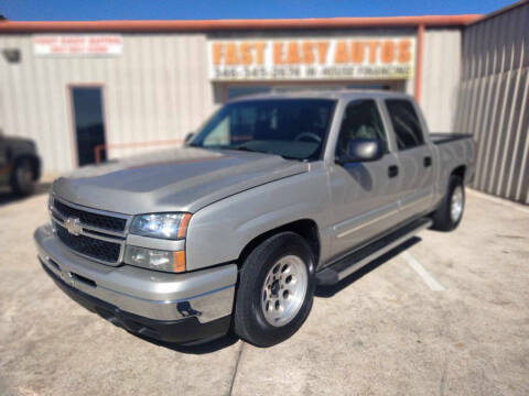
{"type": "Polygon", "coordinates": [[[105,82],[68,82],[66,84],[66,113],[68,119],[68,129],[69,129],[69,151],[72,158],[72,167],[75,169],[79,167],[79,153],[77,151],[77,131],[75,128],[75,114],[74,114],[74,88],[99,88],[101,91],[101,117],[102,117],[102,138],[105,139],[105,144],[108,144],[108,133],[107,133],[107,86],[105,82]]]}

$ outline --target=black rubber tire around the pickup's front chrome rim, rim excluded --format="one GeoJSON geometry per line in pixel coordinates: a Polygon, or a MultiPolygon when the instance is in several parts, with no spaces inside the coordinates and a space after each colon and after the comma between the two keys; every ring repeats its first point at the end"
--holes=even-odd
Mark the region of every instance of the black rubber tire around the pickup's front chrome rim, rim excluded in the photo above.
{"type": "Polygon", "coordinates": [[[303,324],[312,308],[315,289],[315,261],[311,248],[298,234],[284,232],[261,243],[245,261],[236,302],[236,331],[239,337],[258,346],[270,346],[291,337],[303,324]],[[278,260],[287,255],[299,256],[306,265],[307,287],[303,305],[295,317],[282,327],[264,319],[261,290],[268,272],[278,260]],[[245,318],[244,323],[239,320],[245,318]],[[245,329],[240,329],[244,326],[245,329]]]}

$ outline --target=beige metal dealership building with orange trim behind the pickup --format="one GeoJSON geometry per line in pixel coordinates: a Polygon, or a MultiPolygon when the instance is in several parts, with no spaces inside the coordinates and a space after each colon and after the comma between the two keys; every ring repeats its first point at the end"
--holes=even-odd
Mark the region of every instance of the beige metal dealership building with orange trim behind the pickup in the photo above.
{"type": "Polygon", "coordinates": [[[529,2],[488,15],[0,22],[0,129],[44,173],[176,145],[222,103],[304,89],[413,96],[477,142],[473,186],[529,204],[529,2]]]}

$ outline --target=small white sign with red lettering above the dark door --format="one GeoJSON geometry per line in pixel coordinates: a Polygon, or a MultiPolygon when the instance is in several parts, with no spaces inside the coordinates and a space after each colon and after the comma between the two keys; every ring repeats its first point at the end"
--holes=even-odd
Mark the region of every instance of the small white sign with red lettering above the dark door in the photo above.
{"type": "Polygon", "coordinates": [[[112,56],[122,48],[122,38],[116,34],[33,36],[33,51],[40,56],[112,56]]]}

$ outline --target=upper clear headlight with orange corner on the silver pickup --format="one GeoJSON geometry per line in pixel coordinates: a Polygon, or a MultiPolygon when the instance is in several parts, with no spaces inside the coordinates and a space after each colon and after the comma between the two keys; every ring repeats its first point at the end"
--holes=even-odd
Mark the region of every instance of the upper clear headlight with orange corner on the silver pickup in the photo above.
{"type": "Polygon", "coordinates": [[[182,239],[187,232],[191,213],[151,213],[136,216],[130,233],[161,239],[182,239]]]}

